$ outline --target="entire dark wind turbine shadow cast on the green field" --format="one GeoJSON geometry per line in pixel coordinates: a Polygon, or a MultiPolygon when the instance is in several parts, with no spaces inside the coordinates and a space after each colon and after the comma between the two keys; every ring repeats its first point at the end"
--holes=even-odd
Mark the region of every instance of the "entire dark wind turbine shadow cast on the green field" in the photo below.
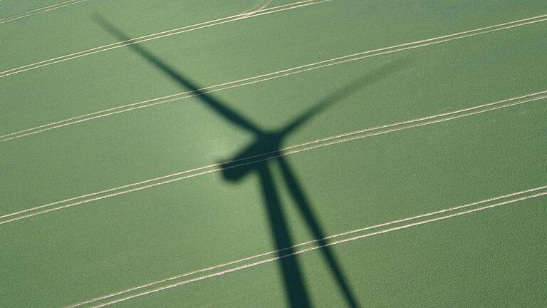
{"type": "MultiPolygon", "coordinates": [[[[122,31],[116,29],[104,19],[99,17],[96,20],[100,26],[103,26],[103,28],[120,39],[120,41],[129,40],[122,31]]],[[[318,222],[315,212],[313,212],[311,202],[309,202],[306,193],[304,193],[302,185],[296,178],[296,175],[294,175],[293,169],[288,161],[283,157],[282,144],[287,135],[293,133],[293,131],[298,128],[301,128],[308,120],[313,118],[313,116],[321,113],[325,108],[332,106],[334,103],[350,96],[352,93],[355,93],[355,91],[363,88],[363,86],[380,81],[382,78],[386,78],[392,73],[400,71],[406,66],[406,61],[405,63],[402,61],[394,61],[368,73],[362,78],[358,78],[353,83],[341,88],[323,99],[323,101],[318,102],[305,113],[296,116],[291,122],[278,130],[264,130],[240,113],[229,108],[226,103],[218,101],[217,98],[214,98],[209,93],[201,90],[192,81],[189,81],[188,78],[184,77],[182,73],[174,71],[167,63],[154,56],[145,48],[142,48],[142,46],[137,45],[135,42],[130,42],[129,46],[133,51],[142,56],[142,58],[145,58],[148,62],[152,63],[160,69],[160,71],[167,76],[170,76],[174,81],[177,81],[182,88],[195,93],[205,106],[211,108],[214,112],[219,114],[219,116],[222,116],[224,120],[227,120],[229,123],[237,125],[239,128],[247,130],[254,135],[254,142],[236,154],[233,159],[229,160],[231,163],[222,164],[222,174],[224,178],[230,182],[239,181],[250,173],[258,175],[261,193],[264,197],[264,205],[266,206],[266,212],[269,217],[273,242],[275,242],[278,257],[280,257],[279,265],[281,267],[281,277],[283,279],[286,297],[290,307],[312,307],[312,305],[298,258],[296,255],[293,255],[294,252],[296,252],[293,247],[295,242],[291,236],[286,213],[281,204],[278,186],[273,179],[271,170],[271,165],[273,163],[276,163],[278,168],[280,168],[286,188],[293,198],[298,212],[300,212],[301,216],[306,221],[313,237],[318,241],[318,245],[322,246],[321,255],[330,268],[330,272],[333,275],[338,288],[342,292],[345,302],[347,302],[349,307],[359,307],[358,300],[348,285],[348,280],[345,278],[345,274],[340,268],[338,260],[330,250],[330,247],[325,246],[325,244],[327,244],[327,242],[323,240],[325,238],[325,233],[321,228],[321,224],[318,222]],[[260,159],[249,160],[249,158],[256,157],[260,157],[260,159]],[[241,163],[242,160],[247,160],[248,162],[241,163]]]]}

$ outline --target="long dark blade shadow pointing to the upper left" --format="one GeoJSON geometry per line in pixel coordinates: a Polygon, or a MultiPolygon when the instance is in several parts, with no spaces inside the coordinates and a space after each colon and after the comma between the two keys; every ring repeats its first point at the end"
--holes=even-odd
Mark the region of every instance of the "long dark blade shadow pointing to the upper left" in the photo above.
{"type": "Polygon", "coordinates": [[[160,69],[163,73],[165,73],[167,76],[172,78],[174,81],[177,81],[180,86],[187,88],[189,91],[194,93],[198,98],[200,98],[209,108],[212,108],[214,111],[216,111],[219,115],[221,115],[226,120],[229,120],[229,122],[234,123],[238,125],[241,128],[244,128],[246,130],[251,130],[253,133],[260,133],[261,130],[258,128],[258,126],[254,125],[250,120],[244,118],[244,116],[241,116],[241,114],[237,113],[236,111],[231,110],[231,108],[228,108],[224,103],[221,103],[220,101],[217,101],[216,98],[209,95],[207,92],[200,89],[198,86],[196,86],[192,81],[189,81],[188,78],[182,76],[181,73],[178,73],[177,71],[174,71],[173,68],[167,65],[164,61],[162,61],[160,58],[157,58],[157,56],[154,56],[152,53],[147,51],[145,48],[140,46],[134,41],[131,41],[131,39],[125,35],[120,29],[116,28],[112,24],[110,24],[108,21],[103,19],[101,16],[98,16],[95,18],[95,21],[103,27],[106,31],[108,31],[110,34],[115,36],[120,41],[129,41],[128,46],[132,48],[135,53],[138,53],[142,58],[145,58],[148,62],[152,63],[152,65],[156,66],[160,69]]]}

